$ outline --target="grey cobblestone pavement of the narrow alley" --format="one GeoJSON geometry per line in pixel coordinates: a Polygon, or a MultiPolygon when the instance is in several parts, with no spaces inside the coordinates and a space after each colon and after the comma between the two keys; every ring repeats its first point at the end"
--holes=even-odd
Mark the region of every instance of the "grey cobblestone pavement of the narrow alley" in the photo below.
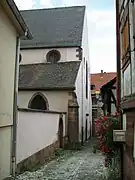
{"type": "Polygon", "coordinates": [[[34,172],[25,172],[17,180],[102,180],[103,157],[92,153],[93,141],[81,151],[64,154],[34,172]]]}

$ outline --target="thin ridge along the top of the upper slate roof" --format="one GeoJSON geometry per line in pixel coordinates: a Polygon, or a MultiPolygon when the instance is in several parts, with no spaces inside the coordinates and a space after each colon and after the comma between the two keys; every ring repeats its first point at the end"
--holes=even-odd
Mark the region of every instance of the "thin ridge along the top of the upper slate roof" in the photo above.
{"type": "Polygon", "coordinates": [[[26,12],[26,11],[40,11],[40,10],[52,10],[52,9],[68,9],[68,8],[86,8],[86,5],[81,5],[81,6],[61,6],[61,7],[53,7],[53,8],[39,8],[39,9],[26,9],[26,10],[21,10],[20,12],[26,12]]]}

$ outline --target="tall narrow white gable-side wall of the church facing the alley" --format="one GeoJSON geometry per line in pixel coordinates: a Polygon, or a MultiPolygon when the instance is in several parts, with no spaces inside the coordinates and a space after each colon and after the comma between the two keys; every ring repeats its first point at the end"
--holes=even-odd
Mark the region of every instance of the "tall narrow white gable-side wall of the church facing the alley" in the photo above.
{"type": "Polygon", "coordinates": [[[76,94],[79,103],[79,134],[81,140],[81,127],[84,129],[85,138],[85,126],[86,126],[86,114],[89,114],[88,119],[88,137],[90,135],[90,123],[92,122],[92,103],[91,103],[91,92],[90,92],[90,59],[89,59],[89,45],[88,45],[88,27],[87,18],[85,14],[84,18],[84,28],[82,35],[82,49],[83,57],[80,65],[80,69],[76,79],[76,94]],[[86,62],[88,63],[88,99],[86,98],[86,62]]]}

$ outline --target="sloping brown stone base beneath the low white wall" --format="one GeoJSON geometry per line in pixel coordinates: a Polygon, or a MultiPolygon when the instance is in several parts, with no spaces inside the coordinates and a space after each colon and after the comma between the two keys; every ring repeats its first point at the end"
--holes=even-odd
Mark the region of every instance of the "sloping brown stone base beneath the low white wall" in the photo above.
{"type": "Polygon", "coordinates": [[[59,148],[59,141],[45,147],[41,151],[33,154],[27,159],[23,160],[17,165],[17,173],[22,173],[27,170],[32,170],[35,167],[43,165],[45,161],[48,161],[52,158],[53,153],[56,149],[59,148]]]}

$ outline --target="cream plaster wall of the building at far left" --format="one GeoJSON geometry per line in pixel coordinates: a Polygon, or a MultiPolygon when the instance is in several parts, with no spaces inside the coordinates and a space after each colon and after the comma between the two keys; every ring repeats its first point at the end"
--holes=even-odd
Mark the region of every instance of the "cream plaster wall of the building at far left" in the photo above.
{"type": "Polygon", "coordinates": [[[16,30],[0,6],[0,179],[10,175],[16,30]]]}

